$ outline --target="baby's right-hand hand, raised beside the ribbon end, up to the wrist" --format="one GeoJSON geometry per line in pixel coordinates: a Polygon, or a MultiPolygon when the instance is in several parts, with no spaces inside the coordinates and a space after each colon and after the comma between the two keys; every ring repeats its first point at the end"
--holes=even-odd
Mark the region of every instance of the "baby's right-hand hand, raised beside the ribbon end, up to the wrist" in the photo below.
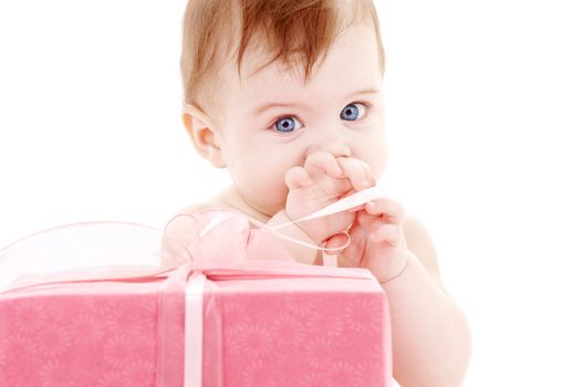
{"type": "MultiPolygon", "coordinates": [[[[353,210],[353,209],[352,209],[353,210]]],[[[375,199],[355,208],[350,244],[338,252],[340,266],[369,269],[380,282],[396,275],[405,266],[407,245],[402,228],[404,209],[394,200],[375,199]]],[[[325,248],[346,243],[343,233],[331,237],[325,248]]]]}

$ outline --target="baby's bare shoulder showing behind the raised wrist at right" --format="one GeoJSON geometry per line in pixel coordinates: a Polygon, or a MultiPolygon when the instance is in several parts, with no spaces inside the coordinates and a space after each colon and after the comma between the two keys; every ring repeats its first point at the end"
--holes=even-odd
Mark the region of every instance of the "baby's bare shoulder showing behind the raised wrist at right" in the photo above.
{"type": "Polygon", "coordinates": [[[403,229],[407,250],[414,253],[428,274],[442,289],[444,283],[439,271],[438,258],[432,237],[424,223],[413,215],[406,215],[403,229]]]}

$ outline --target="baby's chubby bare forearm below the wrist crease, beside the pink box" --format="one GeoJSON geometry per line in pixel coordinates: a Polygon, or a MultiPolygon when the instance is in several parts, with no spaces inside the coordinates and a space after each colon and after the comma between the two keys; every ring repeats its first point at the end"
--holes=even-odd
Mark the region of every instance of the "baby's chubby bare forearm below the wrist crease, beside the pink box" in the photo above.
{"type": "Polygon", "coordinates": [[[382,284],[390,301],[394,377],[402,387],[459,387],[471,353],[468,322],[418,258],[407,254],[403,273],[382,284]]]}

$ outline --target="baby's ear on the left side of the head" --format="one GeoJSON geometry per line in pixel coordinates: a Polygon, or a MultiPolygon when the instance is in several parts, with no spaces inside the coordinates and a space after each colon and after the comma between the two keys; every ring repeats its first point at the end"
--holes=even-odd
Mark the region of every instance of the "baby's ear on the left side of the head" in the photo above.
{"type": "Polygon", "coordinates": [[[196,150],[216,168],[226,168],[220,146],[220,134],[209,117],[197,106],[186,105],[181,122],[196,150]]]}

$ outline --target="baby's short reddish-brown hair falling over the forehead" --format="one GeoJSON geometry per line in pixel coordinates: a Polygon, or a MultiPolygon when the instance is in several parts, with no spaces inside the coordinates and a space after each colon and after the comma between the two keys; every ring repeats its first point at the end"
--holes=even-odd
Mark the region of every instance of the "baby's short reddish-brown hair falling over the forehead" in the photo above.
{"type": "Polygon", "coordinates": [[[272,54],[272,60],[262,67],[277,60],[294,65],[295,70],[302,64],[307,83],[318,59],[324,61],[341,29],[362,20],[371,20],[375,30],[383,75],[385,54],[372,0],[189,0],[184,14],[180,60],[184,104],[208,112],[217,102],[216,88],[225,59],[232,48],[238,48],[240,77],[245,51],[257,38],[263,39],[263,49],[272,54]],[[340,12],[339,4],[352,7],[340,12]],[[234,42],[235,36],[239,36],[238,42],[234,42]],[[293,61],[297,55],[300,60],[293,61]]]}

